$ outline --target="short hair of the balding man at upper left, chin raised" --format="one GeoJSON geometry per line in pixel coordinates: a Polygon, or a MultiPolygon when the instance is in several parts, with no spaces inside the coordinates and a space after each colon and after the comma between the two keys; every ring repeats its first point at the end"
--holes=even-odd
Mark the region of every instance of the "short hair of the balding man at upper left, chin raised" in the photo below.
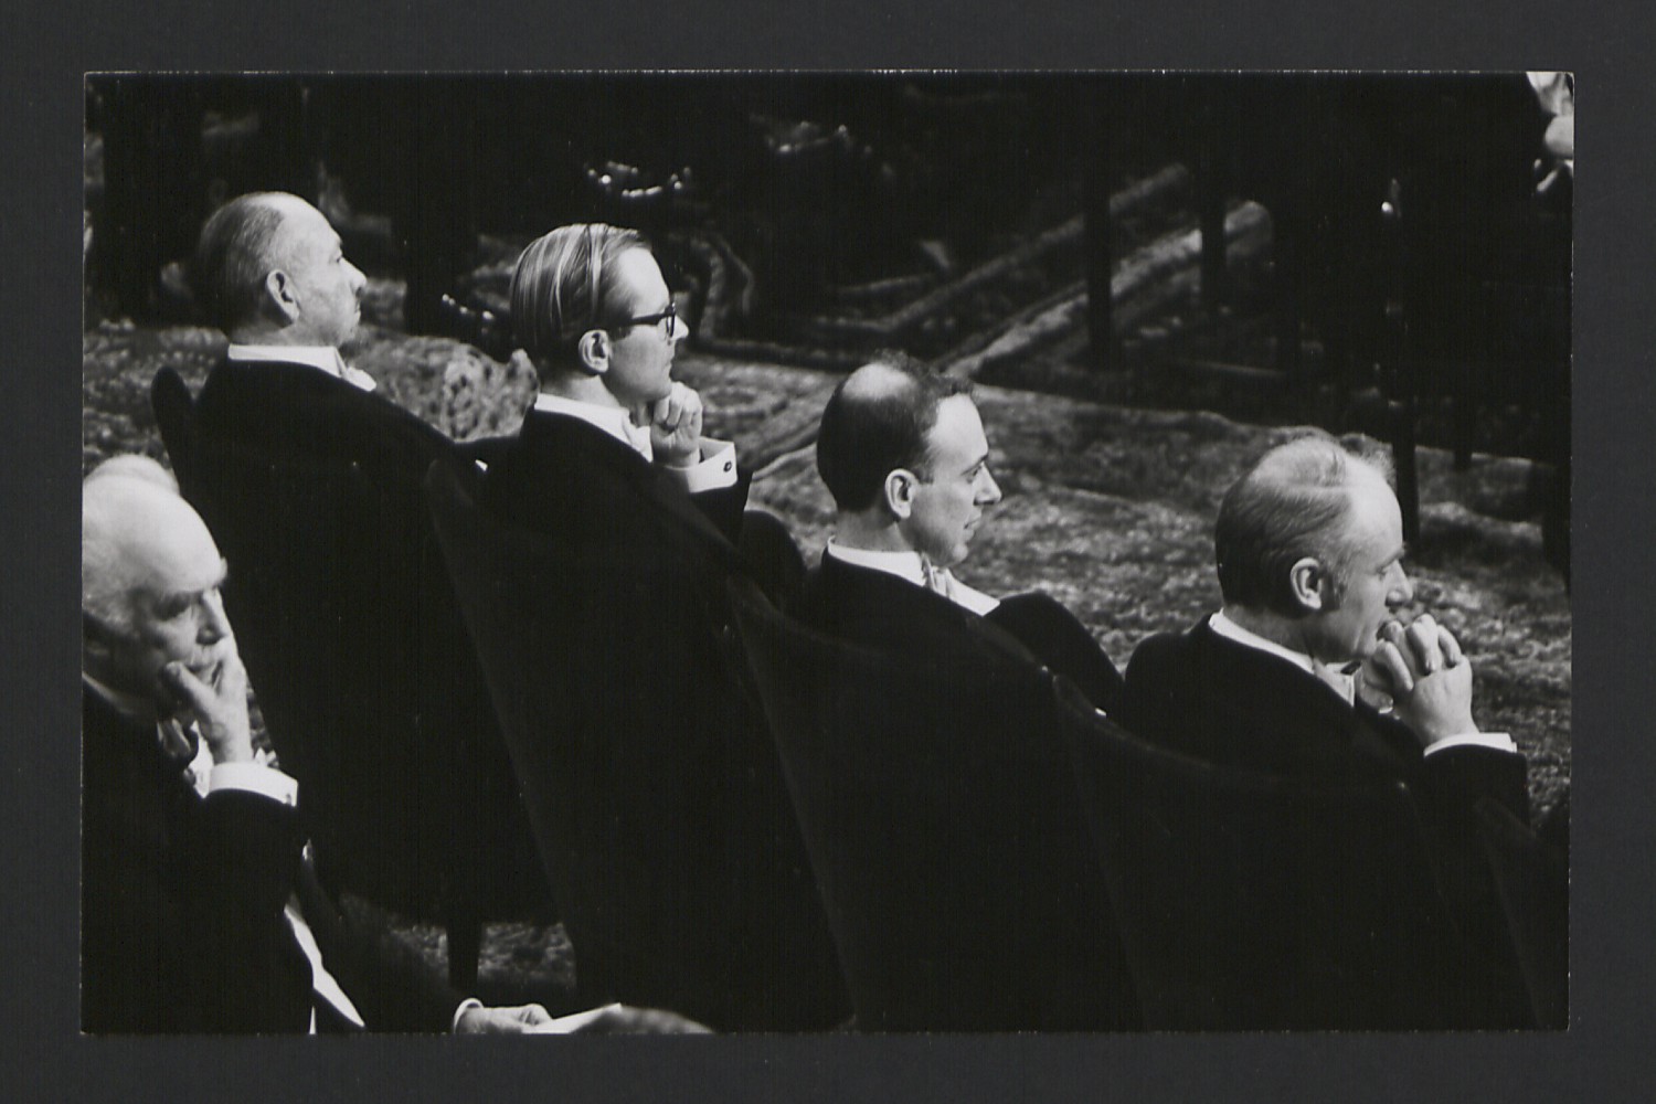
{"type": "Polygon", "coordinates": [[[190,263],[190,288],[214,326],[229,333],[252,321],[277,266],[275,238],[286,192],[248,192],[215,210],[202,225],[190,263]]]}

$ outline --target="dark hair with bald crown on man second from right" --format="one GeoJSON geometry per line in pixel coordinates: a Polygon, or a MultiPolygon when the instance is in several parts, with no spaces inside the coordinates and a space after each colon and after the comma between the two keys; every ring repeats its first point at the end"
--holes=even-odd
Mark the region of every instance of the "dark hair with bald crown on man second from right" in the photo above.
{"type": "Polygon", "coordinates": [[[937,424],[937,404],[970,394],[970,381],[934,372],[904,353],[878,353],[840,381],[816,434],[816,472],[835,505],[868,510],[896,468],[929,478],[926,437],[937,424]]]}

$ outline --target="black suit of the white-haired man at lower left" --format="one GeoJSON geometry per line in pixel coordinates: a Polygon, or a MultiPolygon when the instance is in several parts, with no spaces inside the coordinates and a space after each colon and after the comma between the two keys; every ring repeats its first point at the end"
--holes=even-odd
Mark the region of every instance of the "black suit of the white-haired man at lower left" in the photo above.
{"type": "MultiPolygon", "coordinates": [[[[369,1028],[447,1031],[460,996],[388,935],[354,930],[303,857],[293,808],[202,798],[156,728],[83,694],[81,1025],[121,1033],[305,1033],[310,960],[290,895],[369,1028]]],[[[318,1005],[318,1028],[344,1020],[318,1005]]]]}

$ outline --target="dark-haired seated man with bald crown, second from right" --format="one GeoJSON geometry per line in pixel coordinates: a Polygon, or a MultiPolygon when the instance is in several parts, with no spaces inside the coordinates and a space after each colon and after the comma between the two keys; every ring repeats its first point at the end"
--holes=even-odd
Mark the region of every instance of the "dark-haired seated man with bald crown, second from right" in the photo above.
{"type": "Polygon", "coordinates": [[[912,655],[1010,650],[1114,712],[1121,675],[1068,609],[1043,593],[995,599],[951,573],[1000,502],[965,381],[898,356],[856,369],[823,410],[816,468],[838,513],[795,616],[912,655]]]}

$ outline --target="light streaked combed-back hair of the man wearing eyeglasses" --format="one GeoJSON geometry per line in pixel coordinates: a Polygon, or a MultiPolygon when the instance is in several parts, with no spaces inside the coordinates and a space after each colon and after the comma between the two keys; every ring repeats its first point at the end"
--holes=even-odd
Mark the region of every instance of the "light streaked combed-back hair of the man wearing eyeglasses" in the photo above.
{"type": "Polygon", "coordinates": [[[649,248],[638,230],[578,222],[545,233],[523,250],[512,271],[512,331],[540,369],[570,359],[581,334],[614,324],[614,260],[649,248]]]}

